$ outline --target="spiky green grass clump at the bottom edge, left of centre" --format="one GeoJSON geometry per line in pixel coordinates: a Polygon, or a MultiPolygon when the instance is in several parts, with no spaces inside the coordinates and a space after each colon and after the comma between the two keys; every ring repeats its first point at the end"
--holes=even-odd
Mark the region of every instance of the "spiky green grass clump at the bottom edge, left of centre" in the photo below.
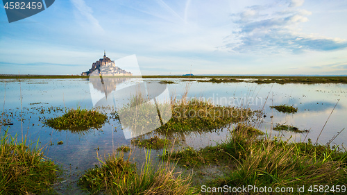
{"type": "MultiPolygon", "coordinates": [[[[100,160],[100,159],[99,159],[100,160]]],[[[163,165],[151,166],[149,156],[141,170],[124,160],[122,153],[114,153],[100,160],[101,166],[88,169],[79,184],[92,193],[104,194],[195,194],[189,178],[175,174],[163,165]]]]}

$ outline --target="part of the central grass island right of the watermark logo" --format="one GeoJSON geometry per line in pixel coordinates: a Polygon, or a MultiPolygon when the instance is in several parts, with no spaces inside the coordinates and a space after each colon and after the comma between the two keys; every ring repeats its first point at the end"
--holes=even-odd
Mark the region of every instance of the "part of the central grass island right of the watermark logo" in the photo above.
{"type": "Polygon", "coordinates": [[[232,123],[245,121],[253,111],[232,106],[214,105],[208,101],[190,99],[172,103],[172,117],[160,128],[161,133],[213,131],[232,123]]]}

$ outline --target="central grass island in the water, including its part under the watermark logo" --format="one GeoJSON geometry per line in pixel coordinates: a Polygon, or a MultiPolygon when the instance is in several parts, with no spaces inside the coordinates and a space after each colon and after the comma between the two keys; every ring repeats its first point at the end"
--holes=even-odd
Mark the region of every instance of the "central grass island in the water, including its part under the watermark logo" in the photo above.
{"type": "MultiPolygon", "coordinates": [[[[188,87],[180,100],[173,98],[169,103],[158,103],[157,105],[150,103],[142,94],[133,96],[130,102],[124,105],[124,108],[118,110],[118,114],[122,116],[122,126],[130,127],[134,132],[153,128],[153,124],[155,124],[153,120],[158,117],[156,106],[160,108],[159,110],[172,110],[171,118],[167,123],[155,130],[164,135],[166,133],[220,130],[232,123],[246,121],[255,113],[250,109],[214,105],[203,99],[188,99],[187,90],[188,87]]],[[[164,112],[164,115],[167,113],[164,112]]],[[[161,115],[162,119],[168,119],[164,115],[161,115]]]]}

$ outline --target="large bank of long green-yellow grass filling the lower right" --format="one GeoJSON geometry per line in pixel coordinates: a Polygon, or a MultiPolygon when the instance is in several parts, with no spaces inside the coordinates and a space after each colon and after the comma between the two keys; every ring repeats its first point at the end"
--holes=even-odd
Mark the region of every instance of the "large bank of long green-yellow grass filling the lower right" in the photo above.
{"type": "MultiPolygon", "coordinates": [[[[314,145],[310,139],[307,143],[296,143],[260,137],[255,132],[252,127],[239,124],[230,132],[230,137],[217,146],[167,152],[162,159],[176,161],[189,169],[230,167],[223,176],[205,180],[203,184],[208,187],[253,185],[296,189],[297,185],[347,185],[345,149],[314,145]]],[[[310,192],[306,190],[304,194],[310,192]]]]}

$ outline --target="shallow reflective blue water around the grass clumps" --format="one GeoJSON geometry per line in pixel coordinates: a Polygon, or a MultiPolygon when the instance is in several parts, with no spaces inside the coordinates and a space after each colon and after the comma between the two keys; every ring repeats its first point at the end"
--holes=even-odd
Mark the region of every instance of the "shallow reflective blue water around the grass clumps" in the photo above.
{"type": "MultiPolygon", "coordinates": [[[[159,82],[162,78],[144,79],[148,82],[159,82]]],[[[262,84],[255,83],[199,83],[186,82],[182,79],[167,78],[175,83],[167,85],[170,96],[180,99],[186,87],[189,88],[188,97],[202,98],[219,105],[235,105],[253,110],[264,110],[264,115],[256,126],[271,136],[289,138],[291,140],[305,141],[312,139],[316,142],[325,122],[333,108],[332,115],[326,123],[318,143],[329,142],[337,132],[347,126],[347,85],[346,84],[262,84]],[[339,101],[338,101],[339,99],[339,101]],[[273,110],[271,105],[294,105],[298,108],[295,114],[285,114],[273,110]],[[271,117],[273,116],[273,117],[271,117]],[[296,126],[299,129],[310,130],[308,135],[298,133],[278,133],[271,130],[271,126],[280,123],[296,126]]],[[[2,126],[1,133],[8,128],[8,133],[21,138],[27,135],[31,141],[40,140],[42,146],[48,146],[45,154],[52,160],[62,164],[71,175],[69,180],[76,180],[78,173],[99,164],[96,151],[99,155],[112,153],[118,146],[128,144],[130,139],[125,139],[119,121],[110,119],[100,130],[89,130],[83,134],[70,133],[67,130],[57,131],[42,124],[43,119],[61,116],[64,108],[93,108],[91,90],[94,93],[107,91],[112,93],[114,88],[122,85],[136,83],[134,80],[123,80],[121,84],[108,85],[104,91],[97,85],[91,85],[85,79],[24,79],[0,80],[1,110],[5,110],[3,119],[8,119],[2,126]],[[92,87],[91,87],[92,86],[92,87]],[[22,103],[20,95],[22,93],[22,103]],[[21,104],[24,121],[20,120],[21,104]],[[53,112],[53,108],[62,110],[53,112]],[[51,108],[51,109],[50,109],[51,108]],[[13,116],[11,115],[13,114],[13,116]],[[58,145],[59,141],[64,144],[58,145]],[[50,144],[52,144],[50,146],[50,144]],[[76,175],[77,174],[77,175],[76,175]]],[[[123,87],[124,87],[123,86],[123,87]]],[[[95,98],[95,96],[94,96],[95,98]]],[[[180,143],[180,147],[192,146],[200,148],[223,142],[228,137],[228,130],[219,130],[213,133],[190,133],[176,137],[169,137],[180,143]]],[[[332,143],[346,144],[347,130],[344,130],[332,143]]],[[[153,151],[153,158],[161,151],[153,151]]],[[[144,149],[135,149],[133,158],[138,164],[144,161],[144,149]]]]}

